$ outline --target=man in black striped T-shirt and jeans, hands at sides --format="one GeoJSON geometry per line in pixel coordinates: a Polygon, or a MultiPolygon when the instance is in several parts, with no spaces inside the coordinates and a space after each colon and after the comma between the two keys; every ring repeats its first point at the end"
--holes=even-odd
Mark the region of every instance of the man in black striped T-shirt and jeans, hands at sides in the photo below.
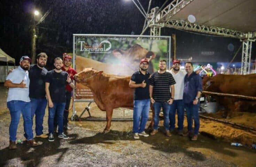
{"type": "Polygon", "coordinates": [[[154,129],[150,135],[155,135],[158,132],[159,112],[161,108],[163,108],[165,135],[171,136],[169,130],[169,111],[170,105],[173,102],[174,84],[176,84],[176,82],[173,79],[172,74],[166,72],[165,60],[162,59],[159,61],[159,70],[151,75],[149,84],[150,100],[153,103],[155,112],[154,129]]]}

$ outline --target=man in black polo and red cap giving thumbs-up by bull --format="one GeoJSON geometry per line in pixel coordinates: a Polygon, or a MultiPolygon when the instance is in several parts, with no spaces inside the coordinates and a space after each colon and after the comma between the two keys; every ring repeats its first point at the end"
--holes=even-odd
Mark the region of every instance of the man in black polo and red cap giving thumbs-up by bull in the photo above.
{"type": "Polygon", "coordinates": [[[149,98],[149,76],[147,72],[148,60],[141,59],[140,69],[132,74],[129,87],[134,89],[133,101],[133,137],[139,139],[140,136],[148,137],[145,133],[145,126],[148,120],[148,113],[150,107],[149,98]]]}

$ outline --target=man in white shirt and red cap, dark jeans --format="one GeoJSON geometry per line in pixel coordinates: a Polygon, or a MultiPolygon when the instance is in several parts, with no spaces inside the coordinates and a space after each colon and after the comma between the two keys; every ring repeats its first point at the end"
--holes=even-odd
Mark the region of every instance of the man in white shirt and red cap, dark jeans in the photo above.
{"type": "Polygon", "coordinates": [[[177,110],[178,115],[178,134],[183,135],[183,122],[184,122],[184,103],[183,103],[183,90],[184,90],[184,78],[185,71],[180,70],[180,61],[178,59],[173,60],[172,69],[170,70],[172,77],[176,81],[174,84],[174,100],[171,104],[169,119],[170,119],[170,132],[175,128],[175,114],[177,110]]]}

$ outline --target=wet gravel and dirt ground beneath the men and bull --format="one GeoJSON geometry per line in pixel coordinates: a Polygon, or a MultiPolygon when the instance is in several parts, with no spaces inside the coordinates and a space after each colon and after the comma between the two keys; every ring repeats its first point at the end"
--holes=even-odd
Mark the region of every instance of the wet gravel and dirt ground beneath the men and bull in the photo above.
{"type": "MultiPolygon", "coordinates": [[[[76,104],[78,115],[82,113],[86,104],[76,104]]],[[[6,109],[6,107],[3,108],[6,109]]],[[[140,140],[134,140],[131,132],[132,121],[118,120],[119,118],[131,119],[132,110],[116,109],[110,132],[102,134],[102,130],[106,126],[106,113],[100,111],[94,103],[90,109],[94,119],[81,119],[69,123],[73,127],[71,131],[67,132],[70,139],[60,140],[57,138],[57,134],[55,134],[54,142],[35,138],[36,141],[43,142],[42,145],[35,148],[27,146],[24,141],[23,119],[21,118],[17,139],[22,139],[24,143],[18,144],[17,150],[9,150],[10,115],[9,111],[5,109],[0,111],[0,140],[2,141],[0,144],[0,166],[232,167],[256,165],[255,150],[248,147],[233,147],[229,142],[223,142],[223,140],[235,141],[239,138],[239,133],[242,132],[231,132],[235,128],[229,127],[228,129],[227,125],[201,119],[201,134],[205,132],[213,137],[199,135],[199,140],[192,142],[187,137],[178,136],[176,131],[171,137],[164,136],[163,120],[161,120],[159,132],[155,136],[140,137],[140,140]]],[[[88,113],[83,115],[83,117],[87,116],[88,113]]],[[[48,111],[46,110],[44,133],[48,131],[47,119],[48,111]]],[[[150,121],[147,122],[147,126],[149,123],[150,121]]],[[[186,121],[184,121],[184,126],[186,129],[186,121]]],[[[248,138],[251,136],[253,135],[248,133],[248,138]]],[[[240,136],[240,138],[245,137],[240,136]]],[[[255,138],[251,140],[255,141],[255,138]]]]}

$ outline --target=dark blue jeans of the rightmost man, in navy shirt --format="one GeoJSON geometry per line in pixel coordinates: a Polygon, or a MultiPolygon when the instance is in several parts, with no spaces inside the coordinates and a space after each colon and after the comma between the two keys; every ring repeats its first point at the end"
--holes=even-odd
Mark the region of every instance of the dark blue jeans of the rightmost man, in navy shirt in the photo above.
{"type": "Polygon", "coordinates": [[[194,105],[193,103],[188,103],[188,104],[184,104],[185,105],[185,109],[186,109],[186,113],[187,113],[187,128],[188,131],[192,131],[192,126],[193,126],[193,119],[194,119],[194,134],[198,135],[199,132],[199,127],[200,127],[200,121],[199,121],[199,105],[200,103],[198,102],[196,105],[194,105]]]}

